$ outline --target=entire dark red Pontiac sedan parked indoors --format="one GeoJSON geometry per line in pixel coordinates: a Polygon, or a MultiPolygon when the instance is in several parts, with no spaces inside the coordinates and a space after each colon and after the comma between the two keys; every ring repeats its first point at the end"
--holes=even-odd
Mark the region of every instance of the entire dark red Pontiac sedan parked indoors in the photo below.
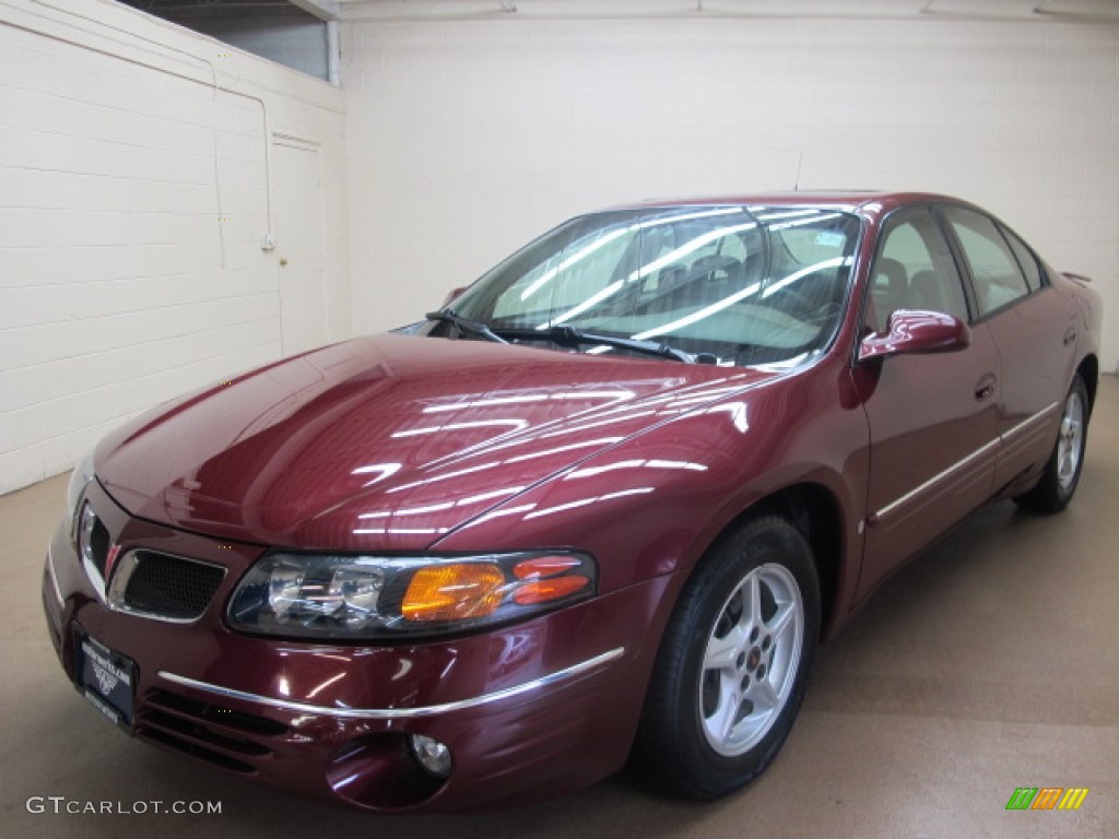
{"type": "Polygon", "coordinates": [[[940,196],[581,216],[102,441],[47,623],[125,732],[290,792],[472,809],[633,755],[714,799],[886,575],[987,502],[1069,502],[1100,315],[940,196]]]}

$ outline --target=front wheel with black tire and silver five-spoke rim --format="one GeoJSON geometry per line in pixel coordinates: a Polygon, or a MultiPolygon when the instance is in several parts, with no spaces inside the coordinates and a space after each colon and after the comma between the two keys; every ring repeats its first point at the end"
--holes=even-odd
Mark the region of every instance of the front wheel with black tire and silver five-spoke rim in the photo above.
{"type": "Polygon", "coordinates": [[[753,781],[792,728],[819,625],[819,582],[805,537],[777,516],[744,524],[705,557],[680,594],[632,765],[661,789],[700,801],[753,781]],[[747,614],[753,592],[760,609],[747,614]],[[774,686],[765,692],[769,681],[774,686]]]}

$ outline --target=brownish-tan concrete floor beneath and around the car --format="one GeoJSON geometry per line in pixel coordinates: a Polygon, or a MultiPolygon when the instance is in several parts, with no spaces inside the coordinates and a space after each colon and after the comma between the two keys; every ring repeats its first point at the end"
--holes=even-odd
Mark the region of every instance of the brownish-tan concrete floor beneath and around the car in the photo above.
{"type": "MultiPolygon", "coordinates": [[[[307,804],[121,735],[66,682],[39,606],[66,478],[0,499],[0,836],[1119,836],[1119,379],[1106,377],[1072,507],[989,508],[893,577],[824,648],[770,771],[707,805],[618,777],[528,810],[379,818],[307,804]],[[1008,812],[1017,786],[1087,786],[1008,812]],[[220,816],[30,813],[28,796],[220,801],[220,816]]],[[[49,802],[48,802],[49,808],[49,802]]]]}

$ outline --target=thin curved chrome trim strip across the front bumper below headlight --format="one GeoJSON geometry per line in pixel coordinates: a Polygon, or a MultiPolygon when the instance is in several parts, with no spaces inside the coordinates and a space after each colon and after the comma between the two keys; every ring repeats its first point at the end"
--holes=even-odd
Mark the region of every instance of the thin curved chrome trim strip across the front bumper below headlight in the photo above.
{"type": "Polygon", "coordinates": [[[275,699],[270,696],[258,696],[244,690],[234,690],[233,688],[225,688],[220,685],[210,685],[209,682],[198,681],[197,679],[188,679],[186,676],[178,676],[177,673],[167,672],[166,670],[159,670],[156,675],[161,679],[172,681],[176,685],[182,685],[184,687],[194,688],[195,690],[205,690],[209,694],[225,696],[231,699],[256,703],[258,705],[266,705],[270,708],[280,708],[282,710],[295,711],[298,714],[313,714],[316,716],[330,716],[342,719],[413,719],[415,717],[430,717],[436,714],[449,714],[451,711],[463,710],[466,708],[474,708],[479,705],[496,703],[501,699],[508,699],[513,696],[526,694],[530,690],[536,690],[537,688],[555,685],[556,682],[581,676],[601,667],[602,664],[614,661],[615,659],[621,658],[626,648],[619,647],[614,650],[610,650],[609,652],[604,652],[601,656],[595,656],[593,659],[581,661],[577,664],[572,664],[571,667],[557,670],[548,676],[542,676],[539,679],[526,681],[523,685],[516,685],[511,688],[496,690],[492,694],[483,694],[482,696],[476,696],[471,699],[459,699],[454,703],[427,705],[419,708],[332,708],[326,705],[309,705],[307,703],[297,703],[290,699],[275,699]]]}

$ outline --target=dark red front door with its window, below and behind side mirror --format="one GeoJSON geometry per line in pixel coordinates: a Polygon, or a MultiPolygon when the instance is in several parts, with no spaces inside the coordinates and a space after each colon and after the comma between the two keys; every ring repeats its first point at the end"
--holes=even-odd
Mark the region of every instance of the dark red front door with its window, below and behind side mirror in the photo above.
{"type": "Polygon", "coordinates": [[[897,309],[970,321],[966,349],[862,362],[871,435],[858,596],[993,490],[998,449],[999,357],[976,321],[938,218],[927,206],[894,214],[872,266],[864,332],[885,332],[897,309]]]}

